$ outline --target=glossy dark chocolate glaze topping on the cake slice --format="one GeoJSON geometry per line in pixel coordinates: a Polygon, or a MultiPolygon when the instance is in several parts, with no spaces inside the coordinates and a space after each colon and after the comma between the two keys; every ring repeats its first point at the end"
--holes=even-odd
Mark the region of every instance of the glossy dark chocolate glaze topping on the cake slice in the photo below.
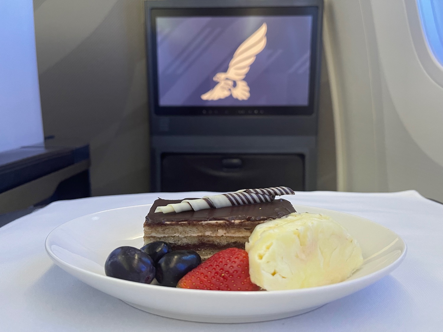
{"type": "MultiPolygon", "coordinates": [[[[195,198],[184,199],[191,200],[195,198]]],[[[295,212],[291,203],[282,198],[268,203],[237,205],[226,208],[209,208],[199,211],[183,211],[179,213],[154,212],[157,206],[180,203],[181,201],[183,200],[163,200],[161,198],[155,200],[149,210],[148,216],[146,216],[146,223],[164,224],[165,222],[187,222],[191,224],[211,220],[224,220],[228,222],[233,222],[234,220],[264,221],[281,218],[282,216],[295,212]]]]}

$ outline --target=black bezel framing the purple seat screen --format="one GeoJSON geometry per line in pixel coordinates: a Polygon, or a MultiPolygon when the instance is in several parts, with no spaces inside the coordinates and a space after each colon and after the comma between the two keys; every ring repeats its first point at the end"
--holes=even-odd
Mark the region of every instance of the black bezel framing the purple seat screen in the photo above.
{"type": "Polygon", "coordinates": [[[319,8],[306,7],[230,7],[230,8],[152,8],[150,10],[150,58],[152,75],[152,101],[154,113],[158,116],[233,116],[233,115],[295,115],[310,116],[315,113],[315,88],[317,79],[318,52],[318,16],[319,8]],[[309,91],[307,105],[288,106],[161,106],[159,105],[158,71],[157,71],[157,17],[192,17],[192,16],[306,16],[312,17],[311,28],[311,59],[309,74],[309,91]]]}

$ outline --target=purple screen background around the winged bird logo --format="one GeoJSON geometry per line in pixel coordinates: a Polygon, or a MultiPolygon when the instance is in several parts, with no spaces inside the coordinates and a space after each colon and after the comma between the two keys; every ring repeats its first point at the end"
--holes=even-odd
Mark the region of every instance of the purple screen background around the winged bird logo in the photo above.
{"type": "Polygon", "coordinates": [[[311,16],[158,17],[160,106],[306,106],[311,16]],[[267,43],[246,74],[248,100],[202,100],[216,73],[264,22],[267,43]]]}

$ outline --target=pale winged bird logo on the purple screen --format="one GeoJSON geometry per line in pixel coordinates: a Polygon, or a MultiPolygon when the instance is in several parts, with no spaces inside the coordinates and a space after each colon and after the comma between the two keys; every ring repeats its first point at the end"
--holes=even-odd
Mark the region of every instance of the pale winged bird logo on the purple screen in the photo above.
{"type": "Polygon", "coordinates": [[[252,35],[238,46],[232,60],[229,62],[226,73],[217,73],[213,80],[218,82],[214,89],[200,96],[203,100],[218,100],[229,97],[238,100],[247,100],[251,95],[245,78],[255,57],[266,46],[266,31],[268,27],[263,23],[252,35]],[[235,85],[234,85],[235,82],[235,85]]]}

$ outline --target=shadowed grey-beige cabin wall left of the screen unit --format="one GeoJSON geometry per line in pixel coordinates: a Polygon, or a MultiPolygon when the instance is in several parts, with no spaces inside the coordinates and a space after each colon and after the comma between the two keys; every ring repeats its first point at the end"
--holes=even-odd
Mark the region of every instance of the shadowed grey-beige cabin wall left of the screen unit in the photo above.
{"type": "Polygon", "coordinates": [[[45,135],[87,142],[93,196],[149,190],[143,1],[34,0],[45,135]]]}

